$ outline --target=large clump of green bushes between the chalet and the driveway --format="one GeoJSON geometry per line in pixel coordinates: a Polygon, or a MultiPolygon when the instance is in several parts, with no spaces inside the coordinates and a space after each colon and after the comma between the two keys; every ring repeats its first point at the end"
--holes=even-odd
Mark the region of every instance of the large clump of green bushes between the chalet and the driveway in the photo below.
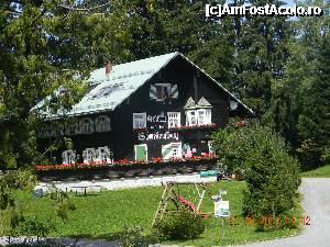
{"type": "MultiPolygon", "coordinates": [[[[299,164],[289,156],[279,135],[255,124],[240,130],[227,128],[224,133],[216,133],[213,138],[224,167],[231,171],[244,170],[248,182],[243,199],[245,215],[275,218],[295,206],[300,182],[299,164]]],[[[260,225],[257,228],[273,227],[260,225]]]]}

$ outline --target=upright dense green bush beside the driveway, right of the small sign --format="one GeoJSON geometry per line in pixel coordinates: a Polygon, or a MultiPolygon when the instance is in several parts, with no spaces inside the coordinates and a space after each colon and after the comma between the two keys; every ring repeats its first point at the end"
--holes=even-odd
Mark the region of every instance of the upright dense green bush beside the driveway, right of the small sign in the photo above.
{"type": "Polygon", "coordinates": [[[255,149],[245,161],[250,167],[245,176],[249,189],[243,199],[245,215],[275,218],[295,207],[299,173],[294,158],[270,144],[255,149]]]}

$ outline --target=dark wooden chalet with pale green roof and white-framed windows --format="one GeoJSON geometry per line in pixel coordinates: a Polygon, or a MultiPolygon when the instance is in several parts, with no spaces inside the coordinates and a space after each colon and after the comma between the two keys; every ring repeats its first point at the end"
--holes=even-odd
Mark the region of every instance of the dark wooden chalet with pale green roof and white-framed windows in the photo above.
{"type": "Polygon", "coordinates": [[[66,113],[68,123],[48,114],[48,126],[37,132],[42,150],[58,136],[72,139],[72,149],[52,154],[56,164],[212,153],[211,131],[230,117],[253,114],[179,53],[107,64],[91,72],[89,82],[91,89],[66,113]]]}

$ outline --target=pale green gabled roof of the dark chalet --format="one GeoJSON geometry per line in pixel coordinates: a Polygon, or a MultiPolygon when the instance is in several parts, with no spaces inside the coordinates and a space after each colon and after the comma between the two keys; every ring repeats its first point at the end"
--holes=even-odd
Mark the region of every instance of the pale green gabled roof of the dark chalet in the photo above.
{"type": "MultiPolygon", "coordinates": [[[[165,67],[175,57],[182,56],[196,68],[198,68],[193,61],[186,58],[179,53],[169,53],[161,56],[150,57],[146,59],[135,60],[121,65],[112,66],[112,70],[108,77],[106,76],[106,69],[100,68],[94,70],[88,81],[96,87],[88,92],[77,104],[75,104],[70,112],[66,115],[84,115],[98,112],[113,111],[120,105],[125,99],[134,93],[140,87],[148,81],[154,75],[156,75],[163,67],[165,67]]],[[[201,70],[200,68],[198,68],[201,70]]],[[[202,70],[201,70],[202,71],[202,70]]],[[[205,71],[207,77],[213,80],[205,71]]],[[[227,89],[220,83],[213,80],[224,91],[227,91],[232,99],[242,104],[248,111],[252,111],[244,105],[240,100],[232,96],[227,89]]],[[[38,109],[43,105],[43,101],[35,105],[38,109]]],[[[46,117],[58,117],[58,115],[51,115],[48,112],[43,112],[46,117]]]]}

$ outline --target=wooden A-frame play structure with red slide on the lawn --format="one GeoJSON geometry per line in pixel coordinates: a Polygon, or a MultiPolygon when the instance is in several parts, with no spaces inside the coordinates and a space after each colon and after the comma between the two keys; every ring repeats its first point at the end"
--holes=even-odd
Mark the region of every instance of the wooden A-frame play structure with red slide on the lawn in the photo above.
{"type": "Polygon", "coordinates": [[[163,187],[164,187],[164,191],[160,200],[158,207],[155,212],[152,226],[154,226],[158,221],[161,221],[165,213],[170,212],[167,210],[169,203],[173,203],[175,205],[176,211],[180,211],[183,206],[186,206],[194,213],[199,214],[205,218],[213,213],[213,212],[210,213],[200,212],[200,206],[205,197],[208,195],[211,199],[211,194],[208,189],[208,183],[170,181],[170,182],[166,182],[165,184],[163,183],[163,187]],[[195,194],[198,195],[198,201],[196,205],[194,205],[193,202],[190,202],[189,200],[187,200],[186,198],[179,194],[180,186],[194,186],[194,190],[195,190],[194,192],[195,194]]]}

